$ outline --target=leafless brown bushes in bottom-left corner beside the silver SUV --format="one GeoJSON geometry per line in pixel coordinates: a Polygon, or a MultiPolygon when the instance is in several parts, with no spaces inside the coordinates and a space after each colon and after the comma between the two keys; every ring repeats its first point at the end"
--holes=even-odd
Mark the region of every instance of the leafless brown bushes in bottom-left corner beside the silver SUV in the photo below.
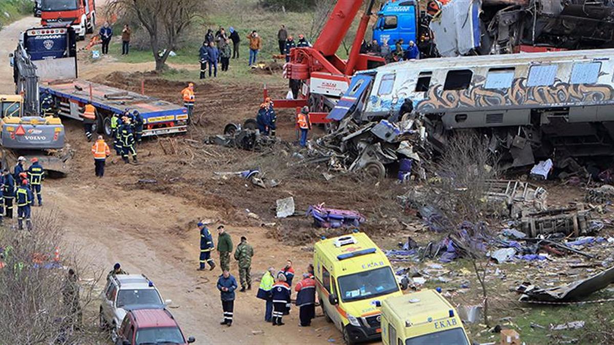
{"type": "Polygon", "coordinates": [[[73,344],[89,338],[82,311],[95,300],[94,287],[103,273],[65,250],[61,234],[53,211],[37,212],[31,231],[0,228],[2,343],[73,344]],[[76,273],[71,279],[69,268],[76,273]],[[79,274],[93,277],[91,284],[80,284],[79,274]]]}

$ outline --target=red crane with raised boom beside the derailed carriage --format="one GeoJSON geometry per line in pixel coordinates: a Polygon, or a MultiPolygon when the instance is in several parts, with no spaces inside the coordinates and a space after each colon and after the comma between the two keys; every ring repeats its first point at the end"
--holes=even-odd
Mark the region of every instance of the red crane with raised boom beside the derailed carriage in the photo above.
{"type": "MultiPolygon", "coordinates": [[[[275,107],[309,106],[312,123],[330,122],[326,116],[347,90],[352,74],[386,63],[381,56],[360,53],[375,0],[369,0],[367,10],[360,18],[348,60],[336,55],[362,2],[339,0],[313,47],[292,48],[290,62],[286,64],[286,78],[290,79],[290,88],[297,99],[273,99],[275,107]]],[[[267,96],[265,86],[264,97],[267,96]]]]}

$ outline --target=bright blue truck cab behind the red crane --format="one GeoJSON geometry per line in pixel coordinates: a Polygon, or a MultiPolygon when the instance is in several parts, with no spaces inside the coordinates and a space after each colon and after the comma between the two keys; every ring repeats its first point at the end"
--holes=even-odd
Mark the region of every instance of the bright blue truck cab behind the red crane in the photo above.
{"type": "Polygon", "coordinates": [[[373,26],[373,39],[379,45],[387,41],[391,50],[394,50],[394,45],[402,38],[405,49],[410,41],[416,42],[417,32],[418,3],[414,0],[388,0],[378,12],[378,20],[373,26]]]}

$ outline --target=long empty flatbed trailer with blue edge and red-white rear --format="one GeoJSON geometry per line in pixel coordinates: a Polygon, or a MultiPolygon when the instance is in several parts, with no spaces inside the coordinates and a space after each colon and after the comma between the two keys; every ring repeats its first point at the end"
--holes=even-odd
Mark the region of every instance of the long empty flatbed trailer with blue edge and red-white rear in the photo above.
{"type": "Polygon", "coordinates": [[[91,102],[98,110],[94,130],[109,137],[111,117],[126,109],[141,113],[144,137],[187,132],[187,109],[158,98],[79,79],[41,83],[39,90],[56,99],[58,114],[76,120],[83,120],[83,108],[91,102]]]}

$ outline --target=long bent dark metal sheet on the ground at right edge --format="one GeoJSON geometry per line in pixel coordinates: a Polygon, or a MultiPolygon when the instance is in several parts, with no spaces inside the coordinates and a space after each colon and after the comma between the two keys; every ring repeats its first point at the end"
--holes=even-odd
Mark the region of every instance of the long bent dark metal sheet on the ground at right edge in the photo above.
{"type": "Polygon", "coordinates": [[[590,295],[593,292],[604,289],[614,282],[614,266],[594,274],[586,279],[571,282],[567,285],[561,285],[550,289],[540,289],[537,286],[531,286],[526,289],[519,298],[521,302],[569,302],[578,301],[583,297],[590,295]]]}

